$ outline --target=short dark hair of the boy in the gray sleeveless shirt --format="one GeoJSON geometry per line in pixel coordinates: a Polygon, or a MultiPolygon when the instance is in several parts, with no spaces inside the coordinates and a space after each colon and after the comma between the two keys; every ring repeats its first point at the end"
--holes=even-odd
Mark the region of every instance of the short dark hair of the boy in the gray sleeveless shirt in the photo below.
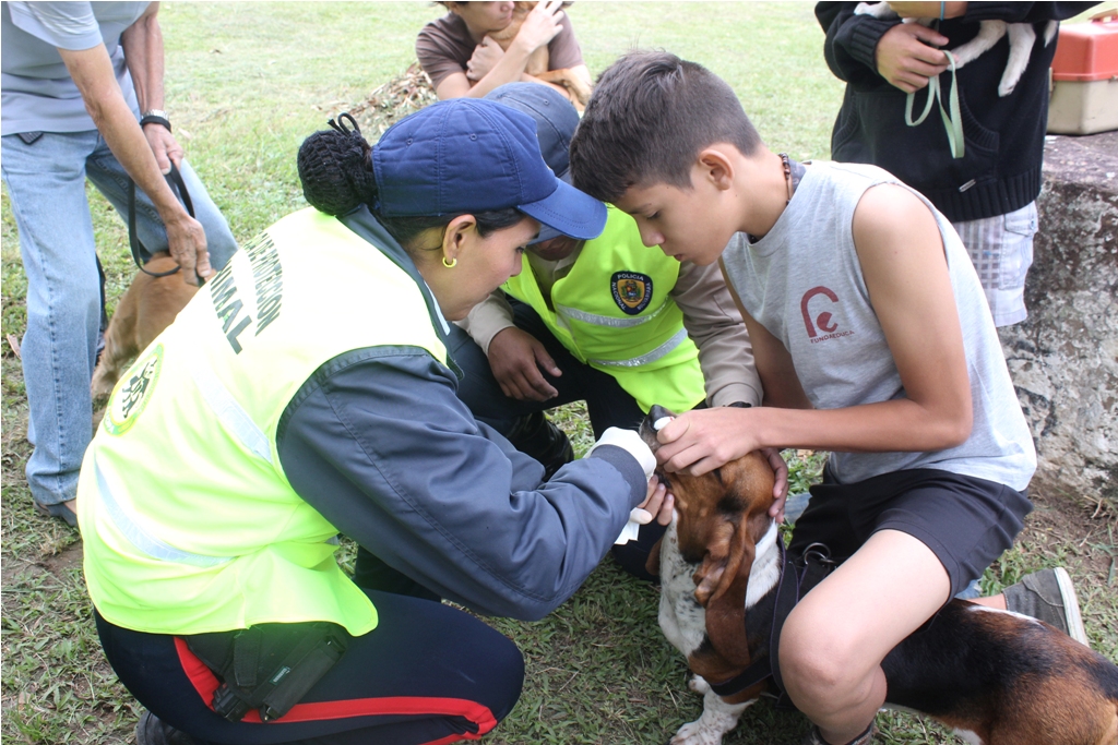
{"type": "Polygon", "coordinates": [[[730,86],[673,54],[634,50],[598,78],[570,143],[570,172],[605,202],[633,185],[690,188],[695,157],[717,142],[745,155],[761,144],[730,86]]]}

